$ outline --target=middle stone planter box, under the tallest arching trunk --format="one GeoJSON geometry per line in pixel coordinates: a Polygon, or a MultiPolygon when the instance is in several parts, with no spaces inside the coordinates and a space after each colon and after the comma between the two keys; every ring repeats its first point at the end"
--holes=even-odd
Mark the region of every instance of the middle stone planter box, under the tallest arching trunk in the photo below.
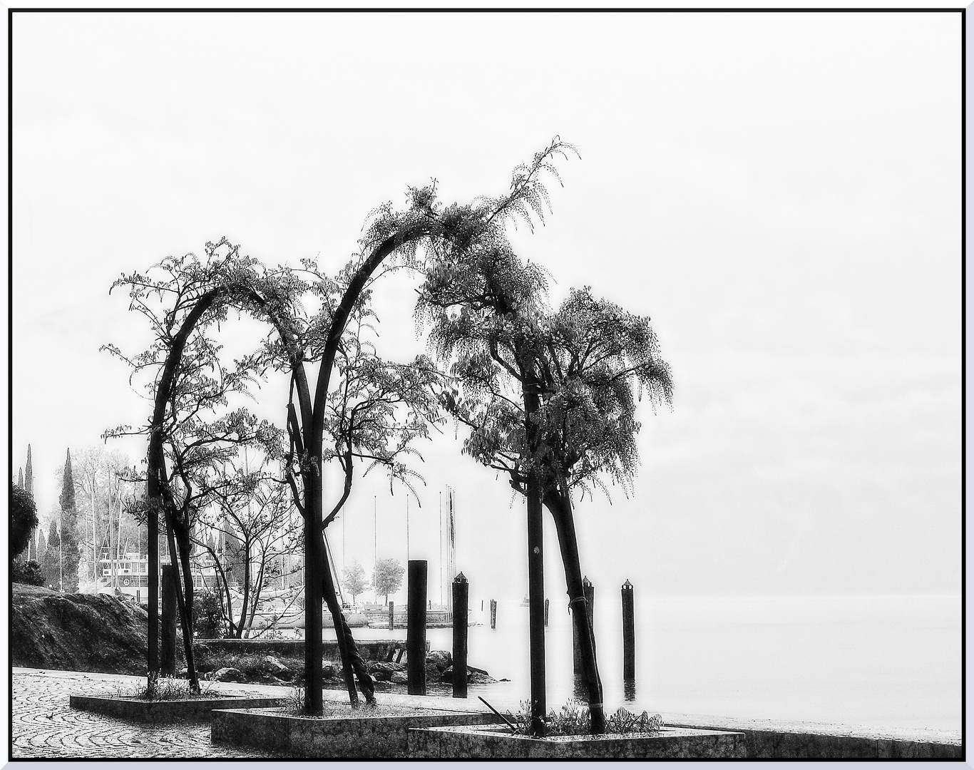
{"type": "MultiPolygon", "coordinates": [[[[213,743],[253,746],[289,756],[314,758],[401,759],[414,727],[446,724],[492,724],[497,717],[477,712],[419,709],[410,715],[300,716],[282,710],[213,712],[213,743]]],[[[394,709],[394,707],[393,707],[394,709]]]]}

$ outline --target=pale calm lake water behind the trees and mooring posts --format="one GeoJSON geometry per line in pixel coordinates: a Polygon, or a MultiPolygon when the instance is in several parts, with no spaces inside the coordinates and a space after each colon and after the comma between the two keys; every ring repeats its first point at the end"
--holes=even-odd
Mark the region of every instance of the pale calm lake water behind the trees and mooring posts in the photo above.
{"type": "MultiPolygon", "coordinates": [[[[473,603],[471,602],[471,605],[473,603]]],[[[621,603],[596,597],[595,633],[607,711],[961,726],[959,597],[668,599],[636,602],[636,693],[624,700],[621,603]]],[[[528,610],[499,601],[497,629],[479,602],[468,662],[509,682],[477,687],[498,708],[529,696],[528,610]]],[[[356,629],[356,639],[405,631],[356,629]]],[[[451,649],[451,629],[430,629],[451,649]]],[[[572,630],[552,601],[545,635],[547,704],[573,691],[572,630]]]]}

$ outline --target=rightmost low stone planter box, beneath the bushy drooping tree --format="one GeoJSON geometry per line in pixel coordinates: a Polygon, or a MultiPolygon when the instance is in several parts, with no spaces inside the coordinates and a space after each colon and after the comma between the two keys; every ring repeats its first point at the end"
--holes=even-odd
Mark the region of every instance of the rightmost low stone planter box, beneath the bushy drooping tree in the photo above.
{"type": "Polygon", "coordinates": [[[529,738],[506,725],[409,731],[409,756],[422,759],[717,759],[746,755],[743,733],[663,727],[656,735],[529,738]]]}

